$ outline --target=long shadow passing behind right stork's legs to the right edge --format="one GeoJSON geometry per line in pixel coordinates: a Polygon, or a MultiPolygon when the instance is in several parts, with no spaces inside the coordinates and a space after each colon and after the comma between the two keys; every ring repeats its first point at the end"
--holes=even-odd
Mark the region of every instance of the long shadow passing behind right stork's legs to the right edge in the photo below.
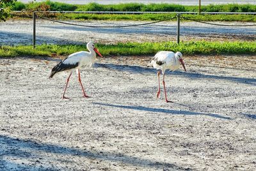
{"type": "MultiPolygon", "coordinates": [[[[131,66],[126,64],[95,64],[95,67],[99,68],[107,68],[111,70],[117,70],[117,71],[128,71],[131,73],[138,73],[138,74],[144,74],[144,73],[157,73],[156,69],[154,68],[145,68],[142,66],[131,66]]],[[[182,77],[188,77],[188,78],[210,78],[210,79],[217,79],[217,80],[228,80],[233,82],[239,82],[242,84],[251,84],[256,85],[256,79],[255,78],[240,78],[240,77],[226,77],[226,76],[219,76],[219,75],[205,75],[202,73],[189,73],[185,71],[166,71],[168,74],[172,75],[180,75],[182,77]]]]}

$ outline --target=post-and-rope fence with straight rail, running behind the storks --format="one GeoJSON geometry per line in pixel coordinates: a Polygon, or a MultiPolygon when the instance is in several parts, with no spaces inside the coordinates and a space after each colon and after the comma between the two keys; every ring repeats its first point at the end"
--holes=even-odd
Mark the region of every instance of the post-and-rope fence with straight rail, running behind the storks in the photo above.
{"type": "MultiPolygon", "coordinates": [[[[17,11],[16,11],[17,12],[17,11]]],[[[154,12],[154,11],[145,11],[145,12],[140,12],[140,11],[47,11],[47,13],[93,13],[93,14],[143,14],[143,13],[175,13],[175,17],[171,17],[170,19],[164,19],[164,20],[158,20],[155,22],[148,22],[145,24],[132,24],[132,25],[125,25],[125,26],[90,26],[90,25],[81,25],[81,24],[70,24],[68,22],[63,22],[60,20],[53,20],[45,17],[39,17],[36,15],[36,13],[41,13],[42,11],[35,11],[33,12],[33,48],[35,48],[36,45],[36,18],[44,19],[44,20],[50,20],[53,22],[58,22],[61,24],[68,24],[72,26],[81,26],[81,27],[134,27],[134,26],[142,26],[142,25],[148,25],[148,24],[154,24],[157,22],[163,22],[166,20],[171,20],[177,17],[177,43],[180,43],[180,19],[186,19],[186,20],[193,20],[189,19],[187,17],[183,17],[182,14],[198,14],[197,12],[154,12]]],[[[238,14],[243,14],[243,15],[256,15],[256,13],[253,12],[246,12],[246,13],[239,13],[239,12],[201,12],[200,14],[208,14],[208,15],[220,15],[220,14],[225,14],[225,15],[238,15],[238,14]]],[[[228,24],[214,24],[211,22],[204,22],[200,20],[193,20],[195,22],[200,22],[204,24],[211,24],[215,26],[225,26],[225,27],[246,27],[246,26],[256,26],[256,24],[249,24],[249,25],[228,25],[228,24]]]]}

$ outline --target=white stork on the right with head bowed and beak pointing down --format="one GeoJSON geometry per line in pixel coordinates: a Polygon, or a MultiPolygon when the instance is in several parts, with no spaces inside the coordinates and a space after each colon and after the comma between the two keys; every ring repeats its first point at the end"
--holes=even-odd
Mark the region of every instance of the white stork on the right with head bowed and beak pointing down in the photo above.
{"type": "MultiPolygon", "coordinates": [[[[163,73],[163,85],[164,85],[164,96],[165,96],[165,101],[169,101],[166,96],[166,89],[165,89],[165,82],[164,82],[164,72],[165,70],[171,70],[175,71],[179,69],[180,64],[182,64],[184,70],[186,71],[185,64],[182,59],[182,54],[180,52],[172,52],[172,51],[160,51],[157,52],[157,54],[154,56],[153,60],[151,63],[148,64],[148,67],[153,66],[157,70],[161,70],[163,73]]],[[[156,98],[159,98],[160,94],[160,71],[157,71],[157,77],[158,77],[158,91],[156,93],[156,98]]]]}

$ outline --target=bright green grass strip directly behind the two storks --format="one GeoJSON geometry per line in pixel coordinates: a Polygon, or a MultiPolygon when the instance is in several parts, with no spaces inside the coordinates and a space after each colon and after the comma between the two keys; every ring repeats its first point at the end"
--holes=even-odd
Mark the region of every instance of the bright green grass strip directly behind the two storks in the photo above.
{"type": "MultiPolygon", "coordinates": [[[[115,45],[96,44],[103,56],[146,56],[160,50],[180,51],[184,56],[196,54],[256,54],[256,41],[184,41],[180,45],[174,42],[161,43],[117,43],[115,45]]],[[[37,45],[0,46],[0,57],[15,56],[68,56],[74,52],[86,50],[85,45],[37,45]]]]}

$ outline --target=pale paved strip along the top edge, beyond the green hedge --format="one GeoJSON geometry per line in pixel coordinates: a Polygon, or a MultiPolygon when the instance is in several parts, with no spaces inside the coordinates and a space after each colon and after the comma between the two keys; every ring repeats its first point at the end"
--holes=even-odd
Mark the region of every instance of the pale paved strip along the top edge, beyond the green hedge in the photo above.
{"type": "MultiPolygon", "coordinates": [[[[21,0],[23,3],[28,3],[31,0],[21,0]]],[[[36,1],[45,1],[45,0],[36,0],[36,1]]],[[[172,4],[184,4],[184,5],[197,5],[198,0],[160,0],[160,1],[155,1],[155,0],[112,0],[112,1],[104,1],[104,0],[51,0],[51,1],[59,1],[62,3],[69,3],[69,4],[87,4],[87,3],[99,3],[99,4],[119,4],[119,3],[172,3],[172,4]]],[[[236,3],[236,4],[256,4],[255,0],[224,0],[224,1],[215,1],[215,0],[202,0],[201,4],[206,5],[206,4],[230,4],[230,3],[236,3]]]]}

